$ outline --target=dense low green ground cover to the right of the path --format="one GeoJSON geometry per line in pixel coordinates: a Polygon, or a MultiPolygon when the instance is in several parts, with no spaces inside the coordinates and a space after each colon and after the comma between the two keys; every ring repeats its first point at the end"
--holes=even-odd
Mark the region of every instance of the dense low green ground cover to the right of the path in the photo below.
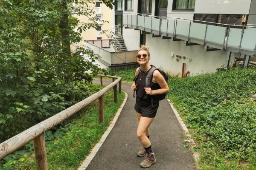
{"type": "Polygon", "coordinates": [[[169,88],[175,107],[204,142],[204,156],[215,150],[220,157],[246,161],[256,153],[256,100],[249,97],[256,93],[255,67],[172,78],[169,88]]]}

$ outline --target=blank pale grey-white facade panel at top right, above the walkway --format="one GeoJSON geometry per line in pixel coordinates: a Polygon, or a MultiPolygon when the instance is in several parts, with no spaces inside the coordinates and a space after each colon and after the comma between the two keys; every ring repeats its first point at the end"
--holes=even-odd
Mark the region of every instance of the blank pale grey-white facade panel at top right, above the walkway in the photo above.
{"type": "Polygon", "coordinates": [[[249,14],[251,0],[196,0],[195,14],[249,14]]]}

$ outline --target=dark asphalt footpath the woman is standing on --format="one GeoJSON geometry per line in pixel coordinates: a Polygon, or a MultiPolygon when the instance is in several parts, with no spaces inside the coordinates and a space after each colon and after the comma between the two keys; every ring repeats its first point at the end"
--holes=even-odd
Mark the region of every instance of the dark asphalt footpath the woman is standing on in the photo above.
{"type": "MultiPolygon", "coordinates": [[[[112,80],[103,79],[110,84],[112,80]]],[[[99,83],[99,79],[94,80],[99,83]]],[[[111,133],[86,170],[142,170],[137,157],[141,144],[136,136],[138,126],[131,83],[122,82],[127,102],[111,133]]],[[[157,162],[147,170],[195,170],[192,152],[183,147],[183,130],[167,100],[160,101],[157,116],[150,126],[150,141],[157,162]]]]}

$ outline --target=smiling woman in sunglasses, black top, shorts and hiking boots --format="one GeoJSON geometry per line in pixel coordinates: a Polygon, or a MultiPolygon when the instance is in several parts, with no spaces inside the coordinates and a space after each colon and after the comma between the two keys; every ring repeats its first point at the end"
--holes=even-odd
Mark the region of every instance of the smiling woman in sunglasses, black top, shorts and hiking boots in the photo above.
{"type": "Polygon", "coordinates": [[[137,128],[137,137],[140,139],[143,145],[142,149],[137,153],[137,156],[143,157],[145,159],[141,162],[141,167],[150,167],[156,162],[154,152],[151,148],[151,142],[149,140],[149,129],[151,122],[157,113],[157,108],[159,106],[159,100],[154,99],[155,94],[163,94],[169,91],[169,87],[162,76],[162,74],[155,70],[153,73],[153,86],[145,87],[145,78],[151,66],[148,64],[150,60],[150,54],[148,47],[141,45],[140,49],[137,51],[137,62],[140,65],[136,69],[135,76],[138,74],[137,80],[131,85],[131,90],[136,91],[136,104],[134,106],[137,112],[137,118],[139,120],[139,125],[137,128]],[[139,72],[139,73],[138,73],[139,72]],[[153,97],[153,105],[151,103],[151,97],[153,97]]]}

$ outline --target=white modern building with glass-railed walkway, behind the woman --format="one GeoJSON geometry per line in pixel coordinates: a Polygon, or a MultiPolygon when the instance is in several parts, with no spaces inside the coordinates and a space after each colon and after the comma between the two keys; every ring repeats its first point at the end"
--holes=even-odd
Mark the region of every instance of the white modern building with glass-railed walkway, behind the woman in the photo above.
{"type": "Polygon", "coordinates": [[[254,0],[124,0],[123,37],[128,50],[147,45],[150,64],[172,76],[215,72],[239,59],[247,67],[256,54],[255,8],[254,0]]]}

